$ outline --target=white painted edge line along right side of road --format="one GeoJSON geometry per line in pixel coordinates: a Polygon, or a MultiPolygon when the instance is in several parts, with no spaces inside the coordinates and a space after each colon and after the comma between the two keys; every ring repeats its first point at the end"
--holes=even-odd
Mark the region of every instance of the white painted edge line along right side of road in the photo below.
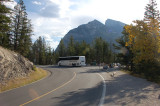
{"type": "Polygon", "coordinates": [[[100,102],[98,104],[98,106],[103,106],[104,104],[104,100],[105,100],[105,94],[106,94],[106,82],[105,82],[105,79],[102,77],[101,74],[97,73],[103,80],[103,91],[102,91],[102,96],[101,96],[101,99],[100,99],[100,102]]]}

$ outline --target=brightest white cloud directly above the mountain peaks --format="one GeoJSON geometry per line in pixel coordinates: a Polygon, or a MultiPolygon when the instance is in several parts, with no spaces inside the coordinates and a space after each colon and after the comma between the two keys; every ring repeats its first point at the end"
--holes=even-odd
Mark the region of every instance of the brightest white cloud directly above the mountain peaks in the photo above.
{"type": "Polygon", "coordinates": [[[90,16],[105,22],[107,18],[116,19],[125,23],[131,23],[135,19],[142,19],[144,8],[148,2],[146,0],[92,0],[89,4],[84,4],[73,15],[90,16]]]}

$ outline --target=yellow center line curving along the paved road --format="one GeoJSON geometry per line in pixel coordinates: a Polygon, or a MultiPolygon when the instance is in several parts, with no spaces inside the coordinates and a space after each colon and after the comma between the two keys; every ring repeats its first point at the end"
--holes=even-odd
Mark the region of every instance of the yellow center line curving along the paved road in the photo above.
{"type": "Polygon", "coordinates": [[[56,91],[56,90],[58,90],[58,89],[64,87],[65,85],[67,85],[68,83],[70,83],[75,77],[76,77],[76,73],[74,72],[73,78],[70,79],[68,82],[64,83],[63,85],[61,85],[61,86],[59,86],[59,87],[57,87],[57,88],[55,88],[55,89],[53,89],[53,90],[51,90],[51,91],[49,91],[49,92],[47,92],[47,93],[45,93],[45,94],[43,94],[43,95],[37,97],[37,98],[34,98],[34,99],[32,99],[32,100],[30,100],[30,101],[28,101],[28,102],[25,102],[25,103],[23,103],[23,104],[21,104],[21,105],[19,105],[19,106],[24,106],[24,105],[26,105],[26,104],[28,104],[28,103],[31,103],[31,102],[33,102],[33,101],[35,101],[35,100],[38,100],[38,99],[40,99],[40,98],[42,98],[42,97],[44,97],[44,96],[46,96],[46,95],[48,95],[48,94],[50,94],[50,93],[56,91]]]}

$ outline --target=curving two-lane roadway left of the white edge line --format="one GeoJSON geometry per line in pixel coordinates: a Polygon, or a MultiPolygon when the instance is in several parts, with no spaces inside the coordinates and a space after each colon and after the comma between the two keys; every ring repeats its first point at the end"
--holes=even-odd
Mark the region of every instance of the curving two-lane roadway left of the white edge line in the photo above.
{"type": "Polygon", "coordinates": [[[104,104],[105,79],[98,67],[39,66],[48,77],[0,93],[0,106],[98,106],[104,104]],[[98,74],[99,73],[99,74],[98,74]]]}

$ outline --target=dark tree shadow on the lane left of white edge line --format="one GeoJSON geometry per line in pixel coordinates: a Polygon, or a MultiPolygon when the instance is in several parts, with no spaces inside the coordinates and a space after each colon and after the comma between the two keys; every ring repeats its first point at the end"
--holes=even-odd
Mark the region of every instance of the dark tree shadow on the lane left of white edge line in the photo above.
{"type": "Polygon", "coordinates": [[[102,89],[102,84],[99,83],[93,88],[79,89],[52,99],[60,99],[58,106],[97,106],[101,98],[102,89]]]}

